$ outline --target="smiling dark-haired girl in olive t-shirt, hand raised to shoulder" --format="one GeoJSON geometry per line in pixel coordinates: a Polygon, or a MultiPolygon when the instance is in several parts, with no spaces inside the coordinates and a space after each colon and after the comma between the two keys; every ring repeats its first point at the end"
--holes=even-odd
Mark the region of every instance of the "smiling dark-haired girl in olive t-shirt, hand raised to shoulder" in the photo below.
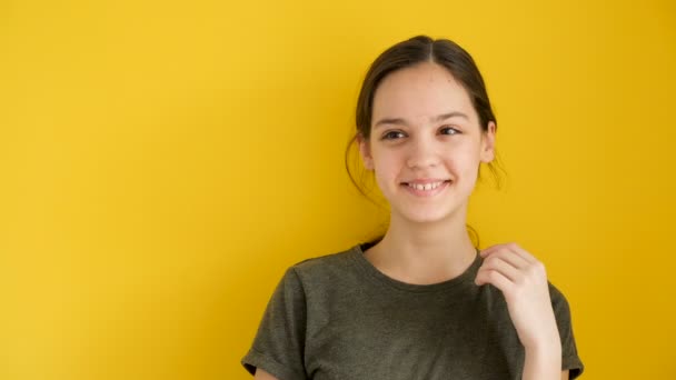
{"type": "Polygon", "coordinates": [[[390,206],[380,239],[289,268],[242,359],[262,379],[575,379],[568,303],[516,243],[474,247],[467,203],[497,122],[473,58],[425,36],[364,80],[355,140],[390,206]]]}

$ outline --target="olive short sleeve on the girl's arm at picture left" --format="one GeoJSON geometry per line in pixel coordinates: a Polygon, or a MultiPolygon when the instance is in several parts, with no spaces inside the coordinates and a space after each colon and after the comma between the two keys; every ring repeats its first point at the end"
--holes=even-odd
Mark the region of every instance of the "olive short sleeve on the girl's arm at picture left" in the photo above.
{"type": "Polygon", "coordinates": [[[258,332],[241,364],[257,368],[279,380],[307,379],[304,366],[306,300],[302,283],[289,268],[270,298],[258,332]]]}

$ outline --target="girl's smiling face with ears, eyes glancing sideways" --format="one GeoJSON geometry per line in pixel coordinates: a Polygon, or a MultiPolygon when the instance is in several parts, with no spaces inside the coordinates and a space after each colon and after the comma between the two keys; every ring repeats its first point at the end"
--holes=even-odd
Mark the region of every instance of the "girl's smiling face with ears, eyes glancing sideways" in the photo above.
{"type": "Polygon", "coordinates": [[[479,163],[494,158],[495,130],[490,122],[483,132],[467,91],[425,62],[382,79],[359,148],[392,217],[430,222],[466,209],[479,163]]]}

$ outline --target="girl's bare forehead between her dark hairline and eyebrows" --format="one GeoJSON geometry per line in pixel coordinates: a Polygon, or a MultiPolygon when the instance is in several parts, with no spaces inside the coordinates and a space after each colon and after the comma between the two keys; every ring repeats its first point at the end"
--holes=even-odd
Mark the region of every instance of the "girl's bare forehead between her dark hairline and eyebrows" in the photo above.
{"type": "Polygon", "coordinates": [[[390,117],[427,120],[450,111],[461,111],[476,120],[465,88],[446,68],[425,62],[382,79],[374,94],[371,120],[390,117]]]}

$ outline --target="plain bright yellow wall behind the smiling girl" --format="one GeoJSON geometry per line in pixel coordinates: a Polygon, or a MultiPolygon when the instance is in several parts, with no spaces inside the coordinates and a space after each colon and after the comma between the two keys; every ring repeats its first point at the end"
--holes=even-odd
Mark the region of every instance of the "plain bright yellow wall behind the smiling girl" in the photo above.
{"type": "Polygon", "coordinates": [[[587,379],[676,374],[673,1],[0,2],[0,379],[247,379],[284,270],[378,229],[342,170],[386,47],[448,37],[495,102],[515,240],[587,379]],[[338,4],[340,3],[340,4],[338,4]]]}

